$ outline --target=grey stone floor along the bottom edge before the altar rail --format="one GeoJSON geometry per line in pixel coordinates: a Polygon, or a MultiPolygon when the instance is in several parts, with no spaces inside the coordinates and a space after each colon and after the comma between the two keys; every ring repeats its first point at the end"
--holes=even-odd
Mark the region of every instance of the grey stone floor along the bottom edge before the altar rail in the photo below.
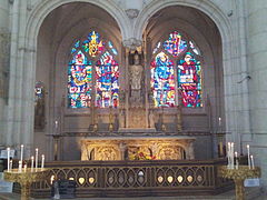
{"type": "MultiPolygon", "coordinates": [[[[19,200],[16,193],[0,193],[0,200],[19,200]]],[[[218,196],[179,196],[179,197],[142,197],[142,198],[77,198],[77,200],[235,200],[235,191],[228,191],[218,196]]],[[[39,199],[49,200],[49,199],[39,199]]],[[[267,200],[267,196],[261,194],[259,188],[246,189],[246,200],[267,200]]]]}

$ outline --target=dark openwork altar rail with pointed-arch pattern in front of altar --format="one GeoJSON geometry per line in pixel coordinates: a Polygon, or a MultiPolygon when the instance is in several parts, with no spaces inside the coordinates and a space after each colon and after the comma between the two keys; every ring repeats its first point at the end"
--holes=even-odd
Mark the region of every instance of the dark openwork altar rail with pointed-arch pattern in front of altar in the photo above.
{"type": "Polygon", "coordinates": [[[75,180],[77,197],[216,194],[234,188],[217,176],[222,164],[225,159],[49,162],[51,173],[44,182],[32,184],[32,197],[50,197],[52,176],[75,180]]]}

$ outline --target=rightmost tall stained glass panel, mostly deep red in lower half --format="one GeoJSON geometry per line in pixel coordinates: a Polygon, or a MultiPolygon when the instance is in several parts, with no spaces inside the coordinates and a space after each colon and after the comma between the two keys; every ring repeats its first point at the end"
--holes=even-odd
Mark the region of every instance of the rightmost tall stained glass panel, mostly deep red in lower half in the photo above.
{"type": "Polygon", "coordinates": [[[201,66],[190,52],[178,62],[178,87],[185,107],[202,107],[201,66]]]}

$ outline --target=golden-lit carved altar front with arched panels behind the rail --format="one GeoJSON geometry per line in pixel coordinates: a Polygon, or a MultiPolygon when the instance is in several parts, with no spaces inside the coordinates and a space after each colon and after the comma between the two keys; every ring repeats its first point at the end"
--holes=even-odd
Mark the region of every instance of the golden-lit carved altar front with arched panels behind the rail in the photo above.
{"type": "Polygon", "coordinates": [[[81,139],[81,160],[195,159],[192,137],[108,137],[81,139]]]}

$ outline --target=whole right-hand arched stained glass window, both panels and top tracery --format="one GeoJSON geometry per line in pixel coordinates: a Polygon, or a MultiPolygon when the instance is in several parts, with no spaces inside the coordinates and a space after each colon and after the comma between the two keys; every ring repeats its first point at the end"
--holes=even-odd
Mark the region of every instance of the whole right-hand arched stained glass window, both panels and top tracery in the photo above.
{"type": "Polygon", "coordinates": [[[200,51],[196,44],[174,31],[161,48],[160,41],[156,43],[152,53],[156,54],[150,64],[155,107],[175,106],[178,91],[184,107],[202,107],[201,66],[196,59],[200,51]],[[174,70],[177,70],[177,82],[174,70]]]}

